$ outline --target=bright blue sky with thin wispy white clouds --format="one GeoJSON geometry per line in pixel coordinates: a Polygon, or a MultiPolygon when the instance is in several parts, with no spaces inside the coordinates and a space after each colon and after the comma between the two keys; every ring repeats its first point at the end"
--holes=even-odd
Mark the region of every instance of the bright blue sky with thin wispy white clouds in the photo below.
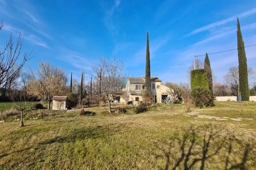
{"type": "MultiPolygon", "coordinates": [[[[22,32],[22,52],[32,52],[24,71],[44,61],[89,81],[99,57],[115,56],[143,76],[148,31],[151,75],[186,83],[194,55],[237,48],[236,17],[245,46],[256,44],[256,0],[0,0],[0,48],[22,32]]],[[[256,46],[246,54],[256,70],[256,46]]],[[[237,50],[209,59],[217,82],[238,65],[237,50]]]]}

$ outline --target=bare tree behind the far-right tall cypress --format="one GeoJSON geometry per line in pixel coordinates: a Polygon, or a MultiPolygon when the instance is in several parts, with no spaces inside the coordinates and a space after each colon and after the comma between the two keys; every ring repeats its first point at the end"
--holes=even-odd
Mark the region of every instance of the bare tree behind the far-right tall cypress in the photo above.
{"type": "MultiPolygon", "coordinates": [[[[254,70],[252,67],[248,68],[248,77],[254,77],[254,70]]],[[[225,83],[229,86],[232,95],[237,96],[239,91],[239,69],[238,66],[233,66],[228,69],[228,72],[224,75],[225,83]]]]}

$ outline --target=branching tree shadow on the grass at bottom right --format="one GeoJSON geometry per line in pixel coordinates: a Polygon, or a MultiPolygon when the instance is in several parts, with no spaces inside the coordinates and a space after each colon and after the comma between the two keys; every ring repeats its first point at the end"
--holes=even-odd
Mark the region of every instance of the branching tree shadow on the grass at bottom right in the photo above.
{"type": "MultiPolygon", "coordinates": [[[[182,139],[174,139],[169,143],[156,143],[156,146],[162,153],[157,154],[156,157],[165,159],[164,170],[204,170],[206,162],[213,157],[223,160],[219,162],[223,163],[224,170],[246,170],[248,161],[254,160],[250,157],[250,154],[254,155],[250,144],[243,144],[229,133],[214,130],[209,126],[203,129],[191,128],[185,132],[182,139]],[[201,134],[203,136],[200,136],[201,134]],[[237,148],[233,146],[241,148],[240,152],[237,152],[237,148]],[[236,159],[230,159],[230,157],[236,157],[236,159]],[[240,160],[237,159],[239,157],[240,160]]],[[[212,162],[211,164],[214,165],[212,162]]],[[[255,162],[253,164],[255,165],[255,162]]]]}

